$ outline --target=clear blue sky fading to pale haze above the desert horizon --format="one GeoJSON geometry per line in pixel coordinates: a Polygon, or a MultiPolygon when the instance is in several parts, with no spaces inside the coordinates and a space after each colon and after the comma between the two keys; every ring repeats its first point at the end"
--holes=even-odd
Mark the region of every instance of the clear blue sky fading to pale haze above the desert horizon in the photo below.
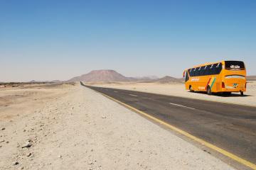
{"type": "Polygon", "coordinates": [[[181,77],[218,60],[256,74],[255,0],[0,1],[0,81],[181,77]]]}

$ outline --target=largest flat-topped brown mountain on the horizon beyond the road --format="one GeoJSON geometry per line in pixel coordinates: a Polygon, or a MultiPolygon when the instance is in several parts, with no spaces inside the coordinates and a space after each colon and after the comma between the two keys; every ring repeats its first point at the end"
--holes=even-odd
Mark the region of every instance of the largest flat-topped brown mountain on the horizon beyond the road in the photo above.
{"type": "Polygon", "coordinates": [[[68,81],[132,81],[133,78],[124,77],[122,74],[111,69],[94,70],[68,81]]]}

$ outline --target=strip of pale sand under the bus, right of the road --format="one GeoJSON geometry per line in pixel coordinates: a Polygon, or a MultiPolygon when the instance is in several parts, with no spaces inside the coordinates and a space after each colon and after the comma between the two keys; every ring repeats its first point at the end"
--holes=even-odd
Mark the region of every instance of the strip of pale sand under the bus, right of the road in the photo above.
{"type": "Polygon", "coordinates": [[[212,95],[202,93],[191,93],[186,91],[184,84],[159,84],[159,83],[87,83],[92,86],[102,86],[114,89],[126,89],[132,91],[143,91],[153,94],[164,94],[170,96],[181,96],[186,98],[197,98],[207,101],[218,101],[225,103],[235,103],[240,105],[256,106],[256,81],[247,83],[247,91],[245,96],[240,93],[233,93],[231,96],[212,95]]]}

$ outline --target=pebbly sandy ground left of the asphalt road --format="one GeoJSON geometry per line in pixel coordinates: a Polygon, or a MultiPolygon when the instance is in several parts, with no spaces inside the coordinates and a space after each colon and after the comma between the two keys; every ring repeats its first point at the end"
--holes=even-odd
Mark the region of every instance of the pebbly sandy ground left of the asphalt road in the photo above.
{"type": "Polygon", "coordinates": [[[79,84],[0,93],[0,169],[233,169],[79,84]]]}

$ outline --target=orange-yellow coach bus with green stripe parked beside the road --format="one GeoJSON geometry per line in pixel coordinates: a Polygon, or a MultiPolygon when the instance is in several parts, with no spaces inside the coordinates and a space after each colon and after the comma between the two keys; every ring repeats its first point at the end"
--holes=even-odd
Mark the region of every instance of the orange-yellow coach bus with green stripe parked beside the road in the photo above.
{"type": "Polygon", "coordinates": [[[207,94],[231,94],[246,91],[246,69],[241,61],[221,61],[201,64],[183,72],[186,90],[207,94]]]}

